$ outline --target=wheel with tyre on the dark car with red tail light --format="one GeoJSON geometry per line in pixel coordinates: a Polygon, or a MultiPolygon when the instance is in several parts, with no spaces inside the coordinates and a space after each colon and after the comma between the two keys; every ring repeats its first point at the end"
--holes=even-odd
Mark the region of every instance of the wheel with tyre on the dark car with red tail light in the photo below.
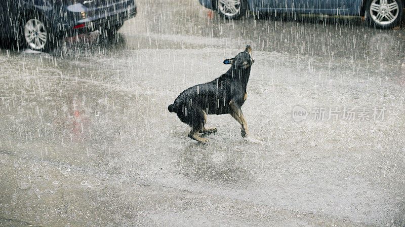
{"type": "Polygon", "coordinates": [[[35,51],[49,51],[52,47],[46,20],[41,17],[28,17],[23,22],[22,42],[35,51]]]}

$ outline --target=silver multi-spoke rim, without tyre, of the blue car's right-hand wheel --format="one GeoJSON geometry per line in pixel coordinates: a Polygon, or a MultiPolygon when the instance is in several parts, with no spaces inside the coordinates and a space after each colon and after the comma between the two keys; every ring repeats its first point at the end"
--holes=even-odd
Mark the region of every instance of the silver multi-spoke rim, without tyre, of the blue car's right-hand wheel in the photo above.
{"type": "Polygon", "coordinates": [[[399,7],[395,0],[373,0],[370,5],[370,16],[380,25],[393,23],[398,14],[399,7]]]}

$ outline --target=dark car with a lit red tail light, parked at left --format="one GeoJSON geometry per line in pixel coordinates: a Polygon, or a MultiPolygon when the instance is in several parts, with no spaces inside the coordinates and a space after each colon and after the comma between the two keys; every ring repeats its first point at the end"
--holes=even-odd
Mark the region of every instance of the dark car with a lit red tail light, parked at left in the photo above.
{"type": "Polygon", "coordinates": [[[113,35],[136,13],[134,0],[1,0],[0,36],[49,51],[61,37],[97,29],[113,35]]]}

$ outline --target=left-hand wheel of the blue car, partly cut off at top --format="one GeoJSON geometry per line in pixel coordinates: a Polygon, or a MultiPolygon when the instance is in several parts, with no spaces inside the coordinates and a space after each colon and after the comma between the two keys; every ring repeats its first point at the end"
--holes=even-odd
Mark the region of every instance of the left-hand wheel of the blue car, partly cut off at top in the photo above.
{"type": "Polygon", "coordinates": [[[238,19],[246,13],[245,0],[218,0],[217,10],[219,15],[226,19],[238,19]]]}

